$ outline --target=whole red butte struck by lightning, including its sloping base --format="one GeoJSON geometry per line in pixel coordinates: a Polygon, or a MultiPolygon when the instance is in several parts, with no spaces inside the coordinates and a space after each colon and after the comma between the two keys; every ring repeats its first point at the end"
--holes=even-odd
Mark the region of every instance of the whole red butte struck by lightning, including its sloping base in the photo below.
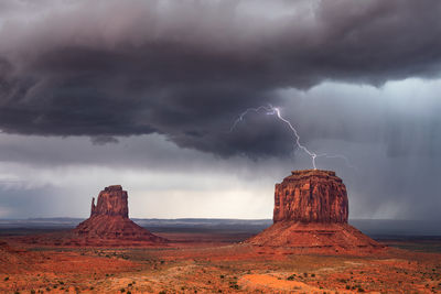
{"type": "Polygon", "coordinates": [[[384,248],[347,224],[348,199],[332,171],[294,171],[276,184],[273,225],[247,240],[299,251],[353,252],[384,248]]]}

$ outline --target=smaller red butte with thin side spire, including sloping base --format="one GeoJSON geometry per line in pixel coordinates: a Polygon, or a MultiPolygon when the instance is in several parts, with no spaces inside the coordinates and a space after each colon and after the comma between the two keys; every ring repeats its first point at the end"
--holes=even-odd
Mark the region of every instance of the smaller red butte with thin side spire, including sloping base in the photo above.
{"type": "MultiPolygon", "coordinates": [[[[133,242],[164,243],[158,237],[129,219],[128,195],[120,185],[108,186],[92,199],[90,217],[73,231],[86,243],[133,242]]],[[[82,242],[83,243],[83,242],[82,242]]]]}

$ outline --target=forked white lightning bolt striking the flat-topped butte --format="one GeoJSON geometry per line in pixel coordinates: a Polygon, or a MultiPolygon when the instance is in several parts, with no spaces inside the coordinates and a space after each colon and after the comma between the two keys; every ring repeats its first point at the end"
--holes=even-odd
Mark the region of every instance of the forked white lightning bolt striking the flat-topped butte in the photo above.
{"type": "Polygon", "coordinates": [[[259,107],[257,107],[257,108],[248,108],[247,110],[245,110],[244,112],[241,112],[240,116],[234,121],[232,128],[229,129],[229,132],[233,132],[233,131],[236,129],[237,124],[238,124],[240,121],[243,121],[244,118],[245,118],[245,116],[247,116],[249,112],[259,113],[259,112],[261,112],[261,111],[266,111],[266,115],[268,115],[268,116],[276,116],[279,120],[281,120],[282,122],[284,122],[284,123],[288,126],[288,128],[291,130],[291,132],[292,132],[293,135],[294,135],[295,145],[311,157],[312,166],[313,166],[314,170],[316,170],[315,160],[316,160],[318,157],[343,159],[343,160],[346,162],[346,165],[347,165],[347,166],[349,166],[349,167],[356,170],[356,167],[353,166],[353,165],[351,164],[349,160],[348,160],[346,156],[344,156],[344,155],[340,155],[340,154],[329,154],[329,153],[316,154],[315,152],[309,150],[305,145],[303,145],[303,144],[300,142],[300,135],[299,135],[298,131],[295,130],[295,128],[292,126],[292,123],[291,123],[289,120],[287,120],[286,118],[282,117],[282,115],[280,113],[280,109],[279,109],[279,108],[272,107],[271,105],[268,105],[268,106],[259,106],[259,107]]]}

